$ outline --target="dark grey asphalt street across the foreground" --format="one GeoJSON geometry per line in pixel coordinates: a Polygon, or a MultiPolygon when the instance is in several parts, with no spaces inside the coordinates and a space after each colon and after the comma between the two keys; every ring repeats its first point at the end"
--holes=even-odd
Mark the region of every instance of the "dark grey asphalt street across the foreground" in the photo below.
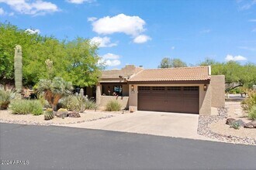
{"type": "Polygon", "coordinates": [[[21,124],[0,132],[0,169],[256,169],[255,146],[21,124]]]}

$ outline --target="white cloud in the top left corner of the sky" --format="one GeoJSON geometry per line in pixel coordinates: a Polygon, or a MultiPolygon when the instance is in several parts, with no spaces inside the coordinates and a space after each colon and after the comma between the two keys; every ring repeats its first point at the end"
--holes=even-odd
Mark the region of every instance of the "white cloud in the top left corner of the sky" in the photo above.
{"type": "Polygon", "coordinates": [[[44,2],[43,0],[37,0],[35,2],[28,2],[26,0],[0,0],[1,2],[9,5],[14,11],[26,15],[44,15],[59,11],[57,5],[51,2],[44,2]]]}

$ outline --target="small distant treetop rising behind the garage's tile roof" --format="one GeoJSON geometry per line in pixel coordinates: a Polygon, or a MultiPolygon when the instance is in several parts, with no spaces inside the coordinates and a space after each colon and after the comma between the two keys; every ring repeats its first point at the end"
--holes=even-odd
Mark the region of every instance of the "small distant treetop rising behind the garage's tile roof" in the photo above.
{"type": "Polygon", "coordinates": [[[183,62],[181,59],[170,59],[168,57],[164,57],[161,60],[158,68],[176,68],[176,67],[185,67],[187,64],[183,62]]]}

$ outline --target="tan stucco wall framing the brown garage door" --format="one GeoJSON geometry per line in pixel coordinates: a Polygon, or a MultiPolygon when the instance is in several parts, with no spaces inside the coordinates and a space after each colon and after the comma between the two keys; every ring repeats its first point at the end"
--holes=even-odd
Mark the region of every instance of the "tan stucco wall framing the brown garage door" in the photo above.
{"type": "Polygon", "coordinates": [[[185,87],[185,86],[199,86],[199,114],[210,115],[211,114],[211,87],[207,84],[207,90],[203,90],[203,84],[164,84],[164,85],[133,85],[134,91],[131,90],[132,84],[129,85],[129,109],[137,110],[138,107],[138,86],[159,86],[159,87],[185,87]]]}

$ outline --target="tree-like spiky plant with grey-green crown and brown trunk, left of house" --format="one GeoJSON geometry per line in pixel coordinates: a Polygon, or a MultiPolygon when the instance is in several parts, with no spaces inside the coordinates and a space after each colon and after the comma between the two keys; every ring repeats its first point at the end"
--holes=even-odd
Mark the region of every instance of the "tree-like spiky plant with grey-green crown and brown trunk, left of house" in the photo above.
{"type": "Polygon", "coordinates": [[[43,93],[53,110],[57,110],[58,101],[71,94],[72,90],[72,83],[64,81],[61,77],[55,77],[54,80],[40,80],[37,88],[39,93],[43,93]]]}

